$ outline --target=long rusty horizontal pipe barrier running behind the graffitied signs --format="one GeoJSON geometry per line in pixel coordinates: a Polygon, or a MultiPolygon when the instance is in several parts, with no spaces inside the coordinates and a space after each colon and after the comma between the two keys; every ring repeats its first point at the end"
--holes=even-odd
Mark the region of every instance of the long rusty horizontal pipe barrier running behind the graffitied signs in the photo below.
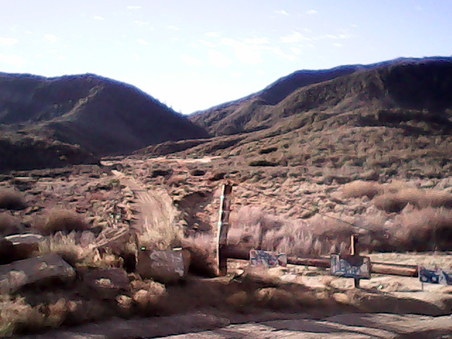
{"type": "MultiPolygon", "coordinates": [[[[230,245],[222,246],[220,249],[223,258],[249,260],[249,251],[237,249],[230,245]]],[[[331,260],[329,258],[297,258],[288,256],[287,263],[299,266],[315,266],[321,268],[330,268],[331,260]]],[[[403,277],[417,277],[417,266],[403,265],[401,263],[371,263],[371,273],[400,275],[403,277]]]]}

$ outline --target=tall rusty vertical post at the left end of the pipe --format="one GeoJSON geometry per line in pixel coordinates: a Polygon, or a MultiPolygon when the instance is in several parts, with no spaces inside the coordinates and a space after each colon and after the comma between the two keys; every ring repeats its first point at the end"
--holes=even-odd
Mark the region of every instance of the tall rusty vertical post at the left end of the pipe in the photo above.
{"type": "Polygon", "coordinates": [[[227,244],[227,233],[229,232],[229,215],[231,207],[232,184],[224,184],[220,196],[220,213],[218,215],[218,265],[219,274],[227,274],[227,258],[222,255],[222,249],[227,244]]]}

